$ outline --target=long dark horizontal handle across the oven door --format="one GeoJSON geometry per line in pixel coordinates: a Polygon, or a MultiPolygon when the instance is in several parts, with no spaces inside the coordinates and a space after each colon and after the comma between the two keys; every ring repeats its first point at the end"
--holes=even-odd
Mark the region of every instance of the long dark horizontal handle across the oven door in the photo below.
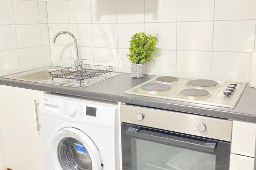
{"type": "Polygon", "coordinates": [[[215,152],[217,141],[195,139],[193,137],[174,135],[172,133],[159,133],[150,131],[140,127],[130,127],[126,130],[126,134],[140,139],[151,140],[153,142],[174,145],[180,148],[191,149],[195,151],[215,152]]]}

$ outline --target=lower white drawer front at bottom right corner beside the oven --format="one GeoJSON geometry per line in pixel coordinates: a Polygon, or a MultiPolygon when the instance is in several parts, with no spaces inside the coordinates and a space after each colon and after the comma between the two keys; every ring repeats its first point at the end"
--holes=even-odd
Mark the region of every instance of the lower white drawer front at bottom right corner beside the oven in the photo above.
{"type": "Polygon", "coordinates": [[[231,154],[229,170],[254,170],[254,158],[231,154]]]}

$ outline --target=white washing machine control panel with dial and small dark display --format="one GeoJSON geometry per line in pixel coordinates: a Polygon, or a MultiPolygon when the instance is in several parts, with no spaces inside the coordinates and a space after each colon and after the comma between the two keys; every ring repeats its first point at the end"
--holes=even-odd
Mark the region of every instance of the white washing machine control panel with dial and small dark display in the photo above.
{"type": "Polygon", "coordinates": [[[87,124],[113,127],[118,106],[86,100],[63,100],[61,98],[43,98],[42,114],[79,121],[87,124]]]}

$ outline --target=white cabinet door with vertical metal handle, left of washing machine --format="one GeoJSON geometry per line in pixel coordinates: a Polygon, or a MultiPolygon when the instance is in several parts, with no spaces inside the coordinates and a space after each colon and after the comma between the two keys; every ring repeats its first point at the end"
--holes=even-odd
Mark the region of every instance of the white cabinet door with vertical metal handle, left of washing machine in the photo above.
{"type": "Polygon", "coordinates": [[[15,170],[42,170],[34,104],[34,100],[39,102],[41,92],[1,85],[0,94],[0,128],[6,166],[15,170]]]}

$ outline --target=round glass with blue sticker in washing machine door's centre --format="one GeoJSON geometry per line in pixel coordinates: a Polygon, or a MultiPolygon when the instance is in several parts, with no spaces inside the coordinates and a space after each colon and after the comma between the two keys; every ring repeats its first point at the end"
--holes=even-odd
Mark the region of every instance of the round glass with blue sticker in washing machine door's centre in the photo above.
{"type": "Polygon", "coordinates": [[[63,170],[92,170],[87,148],[75,138],[67,137],[58,144],[58,159],[63,170]]]}

